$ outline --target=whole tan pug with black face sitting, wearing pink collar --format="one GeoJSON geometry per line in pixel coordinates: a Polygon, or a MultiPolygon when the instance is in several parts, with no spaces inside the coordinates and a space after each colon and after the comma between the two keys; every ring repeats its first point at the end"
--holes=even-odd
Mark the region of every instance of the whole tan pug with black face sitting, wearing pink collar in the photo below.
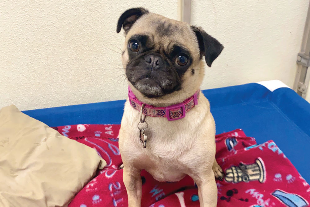
{"type": "Polygon", "coordinates": [[[199,89],[203,61],[211,67],[223,45],[200,27],[145,8],[122,13],[117,33],[122,28],[129,97],[119,149],[128,206],[141,205],[144,169],[160,182],[189,175],[197,184],[200,206],[215,207],[215,178],[223,178],[223,171],[215,160],[215,121],[199,89]]]}

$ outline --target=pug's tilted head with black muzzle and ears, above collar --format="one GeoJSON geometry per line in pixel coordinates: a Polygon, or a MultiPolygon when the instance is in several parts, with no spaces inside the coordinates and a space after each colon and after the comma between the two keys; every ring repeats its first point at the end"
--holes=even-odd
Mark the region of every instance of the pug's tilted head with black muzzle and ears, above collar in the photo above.
{"type": "Polygon", "coordinates": [[[150,103],[192,96],[204,76],[203,56],[211,67],[224,48],[203,29],[144,8],[125,11],[118,19],[117,33],[122,27],[126,76],[136,96],[150,103]]]}

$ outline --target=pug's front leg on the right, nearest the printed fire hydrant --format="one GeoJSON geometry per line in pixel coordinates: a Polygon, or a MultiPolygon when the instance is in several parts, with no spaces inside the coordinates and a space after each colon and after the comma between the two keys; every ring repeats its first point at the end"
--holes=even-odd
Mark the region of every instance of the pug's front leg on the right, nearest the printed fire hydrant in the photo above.
{"type": "Polygon", "coordinates": [[[198,187],[200,207],[216,207],[217,186],[213,170],[210,169],[204,175],[195,176],[194,180],[198,187]]]}

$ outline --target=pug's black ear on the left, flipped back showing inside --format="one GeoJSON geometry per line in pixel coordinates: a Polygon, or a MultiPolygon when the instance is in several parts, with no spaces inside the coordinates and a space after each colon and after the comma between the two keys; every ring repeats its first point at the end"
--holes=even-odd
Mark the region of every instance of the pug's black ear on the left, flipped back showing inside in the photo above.
{"type": "Polygon", "coordinates": [[[148,13],[148,10],[142,7],[128,9],[119,17],[116,32],[119,33],[123,26],[125,34],[127,34],[135,21],[146,13],[148,13]]]}

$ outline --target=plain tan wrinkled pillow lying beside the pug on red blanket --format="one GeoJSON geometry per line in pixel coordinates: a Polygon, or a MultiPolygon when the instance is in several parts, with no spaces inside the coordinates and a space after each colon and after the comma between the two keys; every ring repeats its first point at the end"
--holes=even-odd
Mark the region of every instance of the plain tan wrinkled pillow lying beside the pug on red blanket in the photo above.
{"type": "Polygon", "coordinates": [[[0,110],[0,206],[67,206],[106,162],[16,106],[0,110]]]}

